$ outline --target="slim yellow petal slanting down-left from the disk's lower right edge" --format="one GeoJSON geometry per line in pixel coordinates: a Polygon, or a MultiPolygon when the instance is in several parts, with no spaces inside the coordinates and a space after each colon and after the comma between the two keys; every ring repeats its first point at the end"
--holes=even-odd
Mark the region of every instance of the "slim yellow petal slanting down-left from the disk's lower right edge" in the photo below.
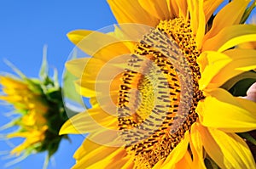
{"type": "Polygon", "coordinates": [[[185,132],[183,140],[172,149],[170,155],[167,156],[166,161],[162,165],[163,168],[175,168],[175,165],[186,154],[189,145],[189,132],[185,132]]]}

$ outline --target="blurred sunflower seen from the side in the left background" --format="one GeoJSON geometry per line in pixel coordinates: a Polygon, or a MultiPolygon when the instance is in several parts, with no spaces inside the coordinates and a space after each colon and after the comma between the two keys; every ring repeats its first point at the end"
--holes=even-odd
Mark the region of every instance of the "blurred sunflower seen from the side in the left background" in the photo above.
{"type": "MultiPolygon", "coordinates": [[[[10,63],[9,63],[10,64],[10,63]]],[[[59,130],[67,121],[67,114],[61,97],[57,74],[51,79],[46,70],[46,61],[42,65],[40,78],[28,78],[10,65],[19,76],[4,74],[0,76],[2,93],[0,99],[14,107],[14,119],[1,127],[8,129],[18,127],[15,132],[4,134],[5,138],[24,138],[23,143],[11,150],[10,154],[20,158],[9,162],[12,165],[27,155],[48,152],[45,166],[49,158],[55,154],[62,138],[59,130]]]]}

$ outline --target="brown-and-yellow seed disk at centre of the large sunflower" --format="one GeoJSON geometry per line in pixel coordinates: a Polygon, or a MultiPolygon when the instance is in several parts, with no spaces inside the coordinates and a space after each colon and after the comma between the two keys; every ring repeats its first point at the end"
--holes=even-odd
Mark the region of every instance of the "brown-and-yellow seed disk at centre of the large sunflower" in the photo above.
{"type": "Polygon", "coordinates": [[[197,120],[200,52],[189,22],[161,21],[135,48],[119,89],[119,134],[143,168],[165,160],[197,120]]]}

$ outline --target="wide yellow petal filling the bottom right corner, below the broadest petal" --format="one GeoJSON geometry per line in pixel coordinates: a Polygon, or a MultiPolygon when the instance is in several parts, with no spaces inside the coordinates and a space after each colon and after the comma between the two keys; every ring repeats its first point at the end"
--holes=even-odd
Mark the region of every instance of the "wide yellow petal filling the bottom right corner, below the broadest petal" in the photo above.
{"type": "Polygon", "coordinates": [[[201,136],[207,154],[221,168],[255,168],[255,161],[245,141],[235,133],[201,127],[201,136]]]}

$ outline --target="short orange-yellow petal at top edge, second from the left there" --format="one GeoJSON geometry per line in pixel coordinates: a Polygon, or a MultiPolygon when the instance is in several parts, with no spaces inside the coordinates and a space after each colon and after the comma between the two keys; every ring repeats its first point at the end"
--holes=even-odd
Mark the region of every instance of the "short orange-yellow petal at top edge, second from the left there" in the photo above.
{"type": "Polygon", "coordinates": [[[170,19],[166,0],[138,0],[138,2],[148,12],[148,14],[154,15],[158,20],[170,19]]]}

